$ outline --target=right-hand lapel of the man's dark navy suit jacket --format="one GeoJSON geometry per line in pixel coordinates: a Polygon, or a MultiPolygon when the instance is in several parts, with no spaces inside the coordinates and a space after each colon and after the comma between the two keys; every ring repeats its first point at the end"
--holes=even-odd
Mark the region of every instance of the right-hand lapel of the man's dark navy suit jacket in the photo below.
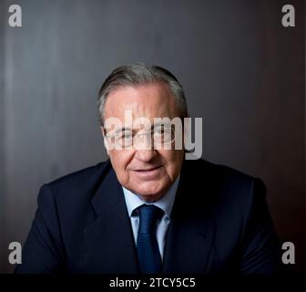
{"type": "Polygon", "coordinates": [[[209,216],[209,182],[205,182],[203,169],[198,172],[189,165],[183,163],[168,226],[163,266],[166,274],[206,273],[213,250],[216,224],[209,216]]]}

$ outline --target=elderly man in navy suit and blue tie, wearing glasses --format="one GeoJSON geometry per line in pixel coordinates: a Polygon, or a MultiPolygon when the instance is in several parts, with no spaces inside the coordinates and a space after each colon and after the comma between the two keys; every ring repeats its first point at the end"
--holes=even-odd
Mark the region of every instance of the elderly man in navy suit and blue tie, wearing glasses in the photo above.
{"type": "Polygon", "coordinates": [[[117,68],[97,105],[109,160],[41,188],[15,272],[276,271],[263,183],[185,160],[176,147],[186,132],[172,121],[188,118],[177,78],[144,64],[117,68]]]}

